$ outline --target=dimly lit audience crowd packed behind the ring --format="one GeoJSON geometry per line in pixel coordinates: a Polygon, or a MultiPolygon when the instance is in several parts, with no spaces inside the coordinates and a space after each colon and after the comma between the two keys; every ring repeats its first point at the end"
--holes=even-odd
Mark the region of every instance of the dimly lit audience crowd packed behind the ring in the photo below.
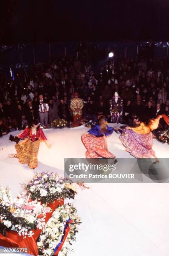
{"type": "Polygon", "coordinates": [[[33,119],[39,119],[44,128],[55,119],[72,122],[70,105],[75,92],[83,100],[85,120],[96,122],[102,114],[110,120],[115,92],[123,100],[121,123],[131,124],[142,113],[149,118],[162,113],[169,116],[167,56],[154,58],[141,49],[136,58],[103,57],[96,46],[89,49],[79,44],[78,57],[58,59],[53,55],[49,61],[29,67],[28,77],[19,73],[13,81],[1,75],[0,136],[25,128],[33,119]],[[96,69],[99,58],[104,63],[96,69]]]}

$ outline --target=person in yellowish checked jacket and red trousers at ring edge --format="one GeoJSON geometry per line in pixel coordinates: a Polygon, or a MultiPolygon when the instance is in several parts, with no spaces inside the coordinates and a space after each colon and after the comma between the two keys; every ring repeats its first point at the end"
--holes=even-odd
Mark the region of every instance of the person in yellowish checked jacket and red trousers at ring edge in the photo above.
{"type": "Polygon", "coordinates": [[[83,106],[83,100],[78,97],[78,92],[75,92],[70,104],[73,113],[73,127],[81,125],[83,106]]]}

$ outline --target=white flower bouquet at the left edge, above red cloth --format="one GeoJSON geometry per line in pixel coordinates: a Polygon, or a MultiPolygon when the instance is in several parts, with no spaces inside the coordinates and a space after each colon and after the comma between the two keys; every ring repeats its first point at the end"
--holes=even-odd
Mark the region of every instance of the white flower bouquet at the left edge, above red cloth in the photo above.
{"type": "Polygon", "coordinates": [[[25,194],[12,200],[10,189],[0,187],[0,233],[3,236],[10,230],[18,232],[23,238],[33,236],[33,230],[44,228],[46,213],[50,211],[50,207],[40,205],[40,202],[30,202],[25,194]],[[42,218],[38,218],[40,215],[42,218]]]}

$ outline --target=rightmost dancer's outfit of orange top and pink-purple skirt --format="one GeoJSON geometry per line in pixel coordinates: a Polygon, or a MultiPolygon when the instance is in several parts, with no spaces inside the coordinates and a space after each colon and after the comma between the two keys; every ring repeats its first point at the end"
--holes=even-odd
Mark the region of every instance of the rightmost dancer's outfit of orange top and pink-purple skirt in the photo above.
{"type": "Polygon", "coordinates": [[[156,158],[156,154],[152,149],[153,134],[151,131],[158,127],[159,120],[160,118],[157,117],[151,120],[147,126],[144,123],[140,123],[136,128],[124,128],[119,138],[126,147],[126,151],[136,158],[156,158]]]}

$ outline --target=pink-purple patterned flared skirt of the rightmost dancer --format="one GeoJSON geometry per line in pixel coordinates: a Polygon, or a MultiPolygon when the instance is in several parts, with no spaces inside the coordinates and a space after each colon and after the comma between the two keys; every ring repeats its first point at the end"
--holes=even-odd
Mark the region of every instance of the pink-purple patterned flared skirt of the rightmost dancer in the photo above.
{"type": "Polygon", "coordinates": [[[124,128],[119,136],[126,150],[136,158],[156,157],[153,146],[153,134],[138,134],[131,129],[124,128]]]}

